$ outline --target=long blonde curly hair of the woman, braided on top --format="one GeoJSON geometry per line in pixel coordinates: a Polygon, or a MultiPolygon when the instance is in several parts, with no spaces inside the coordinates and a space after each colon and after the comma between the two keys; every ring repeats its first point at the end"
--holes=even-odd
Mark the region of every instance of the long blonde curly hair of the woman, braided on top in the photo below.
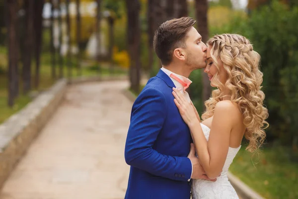
{"type": "Polygon", "coordinates": [[[219,71],[212,79],[218,89],[212,92],[212,98],[205,101],[206,111],[202,118],[205,120],[213,116],[215,105],[223,99],[223,91],[227,89],[231,101],[238,104],[243,114],[244,136],[249,141],[246,150],[254,152],[263,144],[266,137],[264,129],[269,126],[265,121],[268,110],[263,106],[265,95],[261,91],[263,73],[259,70],[260,55],[253,50],[248,39],[237,34],[215,35],[207,44],[212,47],[210,54],[219,71]],[[219,59],[227,73],[225,84],[219,79],[219,59]]]}

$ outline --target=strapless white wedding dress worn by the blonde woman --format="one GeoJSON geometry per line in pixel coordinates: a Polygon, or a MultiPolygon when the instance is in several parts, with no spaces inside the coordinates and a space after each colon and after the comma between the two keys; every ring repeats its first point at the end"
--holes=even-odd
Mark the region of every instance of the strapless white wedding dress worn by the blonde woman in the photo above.
{"type": "MultiPolygon", "coordinates": [[[[210,128],[202,123],[201,126],[208,141],[210,128]]],[[[226,174],[240,148],[241,145],[238,148],[229,147],[223,172],[221,173],[221,176],[217,178],[216,182],[201,179],[192,181],[192,199],[239,199],[234,188],[228,181],[226,174]]]]}

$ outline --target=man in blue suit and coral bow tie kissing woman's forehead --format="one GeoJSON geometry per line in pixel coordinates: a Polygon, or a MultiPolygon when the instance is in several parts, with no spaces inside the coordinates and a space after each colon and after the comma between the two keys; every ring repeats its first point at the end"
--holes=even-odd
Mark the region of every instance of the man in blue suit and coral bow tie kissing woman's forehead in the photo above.
{"type": "MultiPolygon", "coordinates": [[[[125,160],[131,165],[125,199],[189,199],[190,179],[206,179],[172,88],[185,91],[193,70],[206,67],[206,45],[190,17],[161,24],[154,51],[162,68],[151,78],[131,112],[125,160]]],[[[189,96],[184,92],[187,99],[189,96]]]]}

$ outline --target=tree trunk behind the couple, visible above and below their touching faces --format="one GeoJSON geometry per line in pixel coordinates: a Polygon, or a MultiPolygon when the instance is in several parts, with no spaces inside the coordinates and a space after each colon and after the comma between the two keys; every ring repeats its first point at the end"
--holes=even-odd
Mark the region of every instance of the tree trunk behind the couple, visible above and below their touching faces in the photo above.
{"type": "MultiPolygon", "coordinates": [[[[202,36],[202,41],[206,43],[209,37],[208,23],[207,23],[207,10],[208,2],[207,0],[196,0],[196,15],[197,15],[197,25],[198,32],[202,36]]],[[[203,101],[205,102],[210,98],[211,86],[210,81],[206,73],[201,72],[203,79],[203,101]]],[[[204,104],[203,104],[204,107],[204,104]]]]}

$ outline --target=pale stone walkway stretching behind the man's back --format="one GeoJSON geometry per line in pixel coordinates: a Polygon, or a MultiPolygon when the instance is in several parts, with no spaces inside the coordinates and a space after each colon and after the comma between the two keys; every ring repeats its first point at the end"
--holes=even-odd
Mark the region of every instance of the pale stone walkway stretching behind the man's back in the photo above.
{"type": "Polygon", "coordinates": [[[123,199],[132,102],[126,81],[71,86],[6,181],[0,199],[123,199]]]}

